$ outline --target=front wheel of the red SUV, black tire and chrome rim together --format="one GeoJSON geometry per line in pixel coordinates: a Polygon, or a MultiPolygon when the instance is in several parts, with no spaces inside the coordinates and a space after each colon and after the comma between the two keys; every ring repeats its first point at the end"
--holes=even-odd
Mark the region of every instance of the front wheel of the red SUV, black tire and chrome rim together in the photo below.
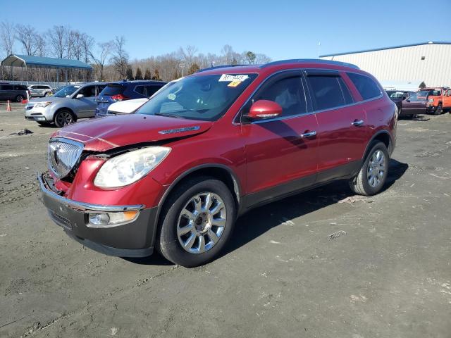
{"type": "Polygon", "coordinates": [[[213,177],[193,177],[168,197],[156,232],[156,248],[168,261],[186,268],[204,265],[226,245],[235,217],[235,201],[226,184],[213,177]],[[206,208],[208,194],[211,204],[206,208]]]}

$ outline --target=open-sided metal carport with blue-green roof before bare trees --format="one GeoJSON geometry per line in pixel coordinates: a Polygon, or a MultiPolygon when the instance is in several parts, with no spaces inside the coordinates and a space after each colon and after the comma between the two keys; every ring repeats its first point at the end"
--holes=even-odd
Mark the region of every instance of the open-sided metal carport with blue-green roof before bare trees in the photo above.
{"type": "Polygon", "coordinates": [[[20,54],[11,54],[7,58],[5,58],[4,61],[1,61],[1,65],[2,79],[4,79],[3,66],[9,66],[20,67],[22,69],[22,80],[25,81],[23,77],[23,68],[25,68],[27,83],[29,81],[28,68],[30,67],[55,69],[57,83],[59,83],[59,70],[64,70],[66,83],[68,82],[68,69],[88,70],[92,72],[92,66],[80,60],[71,60],[68,58],[47,58],[44,56],[30,56],[20,54]]]}

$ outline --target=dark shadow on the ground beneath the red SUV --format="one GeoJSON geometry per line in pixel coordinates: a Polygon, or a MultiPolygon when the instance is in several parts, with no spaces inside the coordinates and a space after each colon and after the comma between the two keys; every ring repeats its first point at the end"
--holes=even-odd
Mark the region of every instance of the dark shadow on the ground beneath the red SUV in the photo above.
{"type": "MultiPolygon", "coordinates": [[[[390,171],[385,181],[383,191],[390,188],[409,168],[407,163],[402,163],[394,159],[390,160],[390,171]]],[[[280,201],[266,204],[255,208],[245,215],[242,215],[235,224],[234,233],[226,248],[219,257],[226,256],[228,253],[239,249],[241,246],[252,242],[252,240],[261,236],[273,227],[282,223],[287,223],[292,219],[311,212],[326,208],[332,204],[347,197],[353,196],[347,181],[339,180],[324,185],[316,189],[302,192],[294,196],[281,199],[280,201]],[[239,234],[236,235],[236,234],[239,234]]],[[[370,197],[371,198],[371,197],[370,197]]],[[[123,258],[126,261],[142,265],[173,265],[170,261],[163,258],[156,250],[154,254],[144,258],[123,258]]]]}

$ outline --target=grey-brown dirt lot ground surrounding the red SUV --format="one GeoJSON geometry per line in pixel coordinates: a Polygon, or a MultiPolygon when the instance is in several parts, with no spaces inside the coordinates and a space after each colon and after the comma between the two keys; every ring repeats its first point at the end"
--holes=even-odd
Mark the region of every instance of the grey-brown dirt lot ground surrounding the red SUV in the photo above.
{"type": "Polygon", "coordinates": [[[221,258],[186,269],[70,240],[35,181],[55,129],[13,108],[0,106],[0,337],[451,337],[450,114],[400,120],[382,194],[337,182],[258,208],[221,258]]]}

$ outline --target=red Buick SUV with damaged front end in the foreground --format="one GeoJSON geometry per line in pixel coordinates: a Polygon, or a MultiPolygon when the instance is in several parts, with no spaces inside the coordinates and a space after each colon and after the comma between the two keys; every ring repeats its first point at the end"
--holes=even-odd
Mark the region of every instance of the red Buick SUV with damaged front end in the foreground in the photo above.
{"type": "Polygon", "coordinates": [[[128,257],[156,248],[193,267],[250,208],[338,179],[380,192],[396,123],[395,104],[354,65],[211,68],[135,114],[58,130],[38,178],[51,218],[83,245],[128,257]]]}

